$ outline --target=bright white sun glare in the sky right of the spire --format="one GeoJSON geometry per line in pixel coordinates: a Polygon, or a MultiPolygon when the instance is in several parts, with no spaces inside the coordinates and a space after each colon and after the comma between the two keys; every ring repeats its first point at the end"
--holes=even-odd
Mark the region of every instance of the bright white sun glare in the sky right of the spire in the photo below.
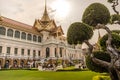
{"type": "Polygon", "coordinates": [[[55,10],[56,16],[61,18],[66,17],[70,10],[70,5],[65,0],[56,0],[52,3],[51,7],[55,10]]]}

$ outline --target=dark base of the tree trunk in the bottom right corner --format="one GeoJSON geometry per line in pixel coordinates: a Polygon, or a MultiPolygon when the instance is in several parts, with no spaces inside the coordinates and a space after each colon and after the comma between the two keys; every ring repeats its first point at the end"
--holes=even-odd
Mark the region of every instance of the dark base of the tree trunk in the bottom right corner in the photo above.
{"type": "Polygon", "coordinates": [[[120,74],[119,71],[117,71],[115,68],[109,68],[109,74],[111,80],[120,80],[120,74]]]}

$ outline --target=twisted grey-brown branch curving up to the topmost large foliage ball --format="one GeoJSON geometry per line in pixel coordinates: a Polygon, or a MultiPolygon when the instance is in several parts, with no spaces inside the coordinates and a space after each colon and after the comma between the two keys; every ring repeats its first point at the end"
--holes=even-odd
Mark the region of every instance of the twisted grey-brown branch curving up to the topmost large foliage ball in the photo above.
{"type": "Polygon", "coordinates": [[[96,28],[102,28],[102,29],[105,29],[108,33],[108,40],[106,41],[106,46],[107,46],[107,52],[110,54],[110,57],[111,57],[111,64],[110,66],[119,66],[120,67],[120,64],[116,64],[116,61],[119,60],[119,53],[118,53],[118,50],[116,50],[112,45],[111,45],[111,42],[112,42],[112,33],[110,31],[110,29],[103,25],[103,24],[98,24],[96,26],[96,28]]]}

